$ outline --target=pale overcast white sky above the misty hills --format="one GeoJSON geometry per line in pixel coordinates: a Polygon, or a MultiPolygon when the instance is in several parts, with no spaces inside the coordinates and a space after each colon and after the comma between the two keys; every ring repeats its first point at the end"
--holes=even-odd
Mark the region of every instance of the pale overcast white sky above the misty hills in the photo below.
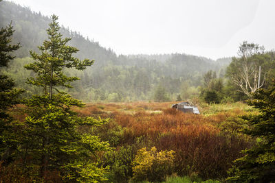
{"type": "Polygon", "coordinates": [[[275,48],[274,0],[12,0],[115,53],[236,56],[243,40],[275,48]]]}

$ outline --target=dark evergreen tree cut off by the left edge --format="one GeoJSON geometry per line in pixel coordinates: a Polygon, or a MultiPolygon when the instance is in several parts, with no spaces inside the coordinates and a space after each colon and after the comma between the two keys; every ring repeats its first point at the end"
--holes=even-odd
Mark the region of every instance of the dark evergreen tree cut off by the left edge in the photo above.
{"type": "MultiPolygon", "coordinates": [[[[20,47],[19,44],[11,45],[13,33],[11,24],[0,30],[0,67],[8,66],[8,62],[14,59],[12,51],[20,47]]],[[[22,92],[23,90],[14,88],[13,80],[0,70],[0,160],[10,158],[11,150],[16,146],[15,140],[12,139],[15,138],[12,119],[7,112],[19,103],[18,97],[22,92]]]]}

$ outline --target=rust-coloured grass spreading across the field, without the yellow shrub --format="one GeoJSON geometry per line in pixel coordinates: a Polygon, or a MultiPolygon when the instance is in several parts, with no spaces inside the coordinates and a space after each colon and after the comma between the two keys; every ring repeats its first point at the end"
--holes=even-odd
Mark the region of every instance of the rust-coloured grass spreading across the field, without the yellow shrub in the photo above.
{"type": "MultiPolygon", "coordinates": [[[[230,109],[206,106],[202,108],[205,114],[185,114],[171,109],[172,103],[175,102],[95,105],[104,106],[102,111],[109,112],[109,117],[124,129],[120,145],[133,145],[143,137],[145,147],[153,145],[159,150],[176,151],[175,171],[178,175],[196,173],[205,179],[226,177],[232,161],[239,158],[240,151],[250,147],[251,143],[245,136],[228,134],[224,123],[237,121],[248,111],[235,106],[230,109]],[[154,110],[162,112],[152,113],[154,110]]],[[[91,110],[94,110],[93,114],[97,112],[95,108],[91,110]]]]}

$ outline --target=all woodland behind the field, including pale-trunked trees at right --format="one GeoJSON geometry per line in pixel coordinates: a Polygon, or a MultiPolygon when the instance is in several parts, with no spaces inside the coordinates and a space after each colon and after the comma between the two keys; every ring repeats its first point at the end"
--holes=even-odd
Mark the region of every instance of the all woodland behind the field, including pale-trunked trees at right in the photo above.
{"type": "MultiPolygon", "coordinates": [[[[33,73],[25,71],[23,65],[31,62],[29,50],[39,51],[36,45],[47,38],[45,29],[50,19],[8,1],[1,2],[0,7],[1,27],[12,21],[17,30],[13,41],[22,45],[14,53],[18,58],[2,70],[15,79],[16,86],[28,91],[23,94],[28,97],[37,89],[25,84],[33,73]]],[[[78,58],[95,60],[94,66],[88,66],[84,72],[65,70],[67,75],[82,80],[74,82],[74,88],[62,89],[85,101],[168,101],[197,96],[208,103],[239,101],[250,98],[257,88],[266,88],[275,73],[274,52],[264,51],[254,43],[243,42],[237,57],[216,61],[179,53],[117,56],[111,49],[69,28],[61,27],[61,33],[72,38],[69,45],[80,49],[76,53],[78,58]],[[162,97],[159,86],[164,89],[162,97]]]]}

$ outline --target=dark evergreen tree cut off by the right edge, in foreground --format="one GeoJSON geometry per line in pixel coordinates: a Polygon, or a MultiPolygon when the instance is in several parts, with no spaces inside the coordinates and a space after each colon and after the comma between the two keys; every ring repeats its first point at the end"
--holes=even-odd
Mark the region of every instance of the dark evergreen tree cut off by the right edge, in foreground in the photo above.
{"type": "Polygon", "coordinates": [[[231,169],[233,182],[274,182],[275,181],[275,81],[269,89],[259,89],[254,93],[251,106],[260,114],[248,118],[252,127],[246,134],[258,139],[256,145],[245,150],[245,156],[235,160],[231,169]]]}

